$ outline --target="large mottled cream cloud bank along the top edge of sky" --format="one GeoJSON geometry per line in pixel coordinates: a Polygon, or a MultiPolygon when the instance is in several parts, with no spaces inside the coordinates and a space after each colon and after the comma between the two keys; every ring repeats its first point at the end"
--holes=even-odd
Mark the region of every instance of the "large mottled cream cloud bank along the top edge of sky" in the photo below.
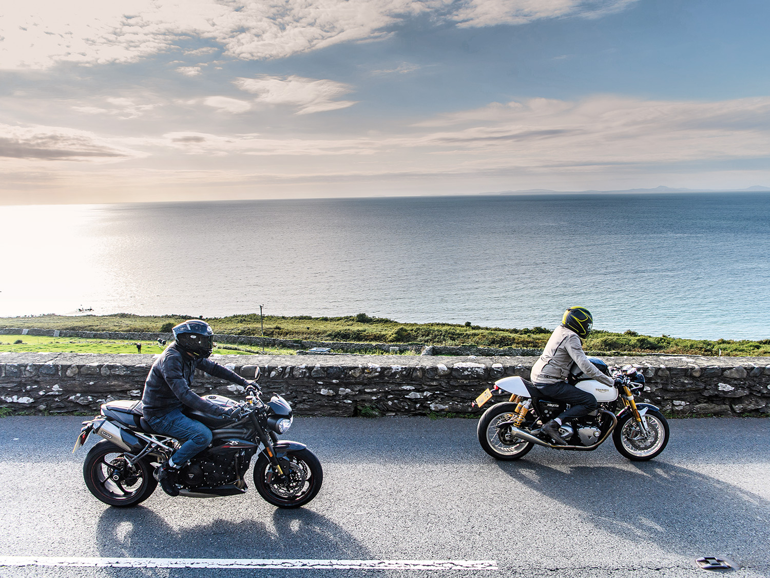
{"type": "MultiPolygon", "coordinates": [[[[0,69],[56,62],[137,62],[160,52],[285,58],[387,36],[416,15],[461,27],[517,25],[567,15],[595,18],[637,0],[28,0],[5,2],[0,69]]],[[[195,74],[195,67],[180,72],[195,74]]],[[[199,71],[198,71],[199,72],[199,71]]]]}

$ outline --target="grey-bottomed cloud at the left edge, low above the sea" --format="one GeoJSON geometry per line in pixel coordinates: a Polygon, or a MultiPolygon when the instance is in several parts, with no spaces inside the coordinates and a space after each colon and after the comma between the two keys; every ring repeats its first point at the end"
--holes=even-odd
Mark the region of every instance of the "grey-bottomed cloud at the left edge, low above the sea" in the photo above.
{"type": "Polygon", "coordinates": [[[142,156],[82,130],[0,124],[0,157],[26,160],[126,160],[142,156]]]}

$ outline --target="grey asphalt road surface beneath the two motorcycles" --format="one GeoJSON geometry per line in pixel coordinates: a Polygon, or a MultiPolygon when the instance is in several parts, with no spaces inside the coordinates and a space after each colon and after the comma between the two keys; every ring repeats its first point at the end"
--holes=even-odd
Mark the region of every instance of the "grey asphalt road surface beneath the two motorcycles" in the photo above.
{"type": "MultiPolygon", "coordinates": [[[[0,419],[0,556],[494,560],[497,570],[233,570],[0,566],[0,576],[708,576],[724,556],[770,576],[770,420],[671,422],[651,462],[533,449],[496,462],[476,422],[296,418],[324,485],[303,509],[249,490],[115,509],[82,481],[72,455],[83,418],[0,419]]],[[[249,472],[250,475],[250,472],[249,472]]]]}

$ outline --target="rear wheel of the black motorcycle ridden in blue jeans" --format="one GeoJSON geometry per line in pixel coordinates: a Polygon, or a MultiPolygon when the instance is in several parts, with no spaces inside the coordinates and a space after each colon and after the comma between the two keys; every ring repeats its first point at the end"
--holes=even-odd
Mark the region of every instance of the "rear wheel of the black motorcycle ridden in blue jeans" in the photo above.
{"type": "Polygon", "coordinates": [[[144,502],[158,486],[149,462],[140,459],[129,467],[123,450],[107,440],[94,445],[85,456],[83,479],[96,498],[118,508],[144,502]]]}

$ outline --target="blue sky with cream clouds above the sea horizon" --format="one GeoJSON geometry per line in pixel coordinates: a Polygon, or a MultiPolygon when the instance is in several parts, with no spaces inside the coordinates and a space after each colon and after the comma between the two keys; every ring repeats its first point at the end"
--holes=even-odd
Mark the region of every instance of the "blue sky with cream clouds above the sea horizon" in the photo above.
{"type": "Polygon", "coordinates": [[[770,185],[765,0],[26,0],[0,204],[770,185]]]}

